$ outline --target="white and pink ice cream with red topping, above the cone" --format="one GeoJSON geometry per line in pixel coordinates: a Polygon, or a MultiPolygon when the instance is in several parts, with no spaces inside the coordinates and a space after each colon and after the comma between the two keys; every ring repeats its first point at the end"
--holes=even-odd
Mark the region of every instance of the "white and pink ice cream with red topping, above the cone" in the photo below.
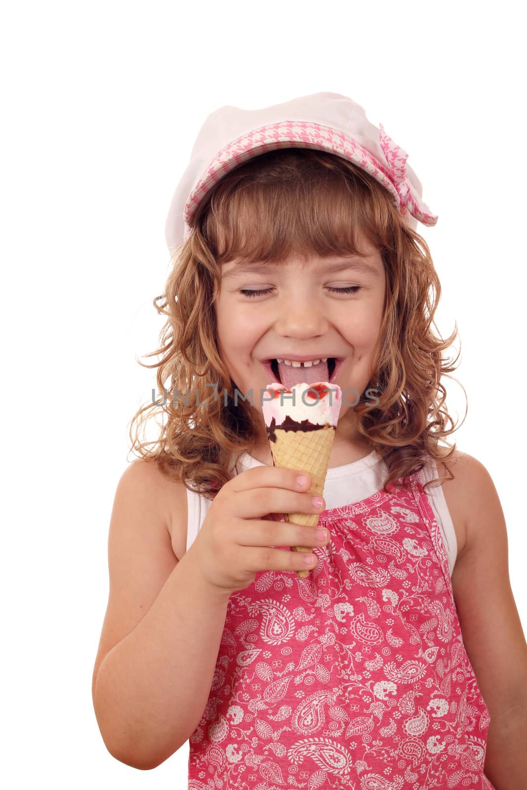
{"type": "Polygon", "coordinates": [[[273,417],[275,425],[279,426],[286,416],[297,423],[308,419],[313,425],[323,427],[329,423],[336,427],[341,404],[341,388],[338,384],[329,384],[329,382],[295,384],[292,389],[273,382],[267,385],[265,392],[262,392],[262,411],[267,427],[273,421],[273,417]],[[269,393],[273,393],[272,398],[269,393]],[[318,397],[315,393],[318,393],[318,397]]]}

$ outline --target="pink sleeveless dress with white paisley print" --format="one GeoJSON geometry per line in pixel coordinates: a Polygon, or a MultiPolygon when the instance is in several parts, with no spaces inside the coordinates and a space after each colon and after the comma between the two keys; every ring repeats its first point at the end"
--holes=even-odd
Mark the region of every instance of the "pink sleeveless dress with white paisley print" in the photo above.
{"type": "Polygon", "coordinates": [[[446,551],[411,480],[324,510],[307,578],[261,572],[232,594],[189,790],[495,790],[446,551]]]}

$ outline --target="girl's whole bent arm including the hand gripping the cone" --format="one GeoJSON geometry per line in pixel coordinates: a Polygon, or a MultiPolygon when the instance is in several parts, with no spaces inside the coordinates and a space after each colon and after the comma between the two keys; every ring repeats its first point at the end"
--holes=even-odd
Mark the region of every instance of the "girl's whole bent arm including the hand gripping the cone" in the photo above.
{"type": "Polygon", "coordinates": [[[258,570],[306,568],[309,551],[274,547],[328,542],[314,527],[275,518],[322,509],[311,493],[300,493],[311,481],[298,483],[297,474],[267,466],[241,472],[219,492],[179,562],[166,524],[181,529],[186,521],[186,489],[166,488],[152,465],[134,463],[122,476],[108,542],[110,598],[92,683],[101,735],[120,762],[155,768],[194,732],[213,685],[232,592],[250,585],[258,570]]]}

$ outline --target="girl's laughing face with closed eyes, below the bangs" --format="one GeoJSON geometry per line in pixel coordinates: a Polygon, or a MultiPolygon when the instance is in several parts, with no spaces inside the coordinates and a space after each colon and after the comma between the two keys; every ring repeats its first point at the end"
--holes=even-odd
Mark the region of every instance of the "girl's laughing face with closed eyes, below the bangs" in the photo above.
{"type": "Polygon", "coordinates": [[[273,380],[265,369],[270,359],[341,358],[339,427],[363,393],[375,371],[386,277],[381,255],[364,240],[362,246],[363,258],[222,266],[214,305],[218,350],[239,392],[248,397],[252,390],[250,402],[261,414],[261,390],[273,380]]]}

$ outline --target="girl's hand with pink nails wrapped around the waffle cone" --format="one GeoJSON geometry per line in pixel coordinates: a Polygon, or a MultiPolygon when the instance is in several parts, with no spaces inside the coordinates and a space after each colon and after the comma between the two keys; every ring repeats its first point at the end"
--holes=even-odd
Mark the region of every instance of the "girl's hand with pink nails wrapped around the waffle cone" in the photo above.
{"type": "Polygon", "coordinates": [[[205,581],[230,594],[248,587],[260,570],[309,570],[316,555],[270,546],[326,546],[316,527],[281,523],[284,513],[322,513],[308,494],[311,475],[275,466],[240,472],[218,491],[198,536],[187,551],[205,581]],[[307,480],[299,485],[297,477],[307,480]],[[311,565],[305,557],[313,557],[311,565]]]}

